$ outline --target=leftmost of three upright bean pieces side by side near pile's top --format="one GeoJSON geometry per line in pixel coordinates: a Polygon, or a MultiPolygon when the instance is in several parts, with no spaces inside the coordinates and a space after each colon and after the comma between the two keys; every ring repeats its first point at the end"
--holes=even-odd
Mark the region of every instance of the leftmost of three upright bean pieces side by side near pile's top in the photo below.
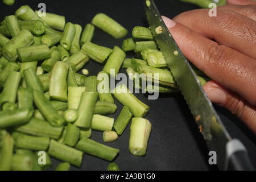
{"type": "Polygon", "coordinates": [[[71,48],[71,44],[76,35],[76,27],[73,23],[68,22],[65,24],[63,38],[60,40],[60,45],[67,49],[71,48]]]}

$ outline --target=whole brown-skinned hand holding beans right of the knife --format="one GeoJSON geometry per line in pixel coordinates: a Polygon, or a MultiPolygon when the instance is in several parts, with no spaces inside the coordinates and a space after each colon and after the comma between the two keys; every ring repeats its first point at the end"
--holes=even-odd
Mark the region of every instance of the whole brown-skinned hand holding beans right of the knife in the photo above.
{"type": "Polygon", "coordinates": [[[236,114],[256,134],[256,1],[228,0],[192,10],[173,20],[163,16],[184,55],[212,78],[204,90],[210,101],[236,114]]]}

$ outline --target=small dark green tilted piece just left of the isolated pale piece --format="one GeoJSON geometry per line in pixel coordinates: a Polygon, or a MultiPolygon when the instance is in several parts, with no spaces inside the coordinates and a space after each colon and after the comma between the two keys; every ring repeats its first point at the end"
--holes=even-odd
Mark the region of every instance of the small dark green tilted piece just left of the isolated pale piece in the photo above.
{"type": "Polygon", "coordinates": [[[123,131],[126,129],[132,117],[133,114],[131,114],[129,108],[127,106],[123,106],[123,109],[113,126],[115,131],[117,131],[118,135],[122,135],[123,131]]]}

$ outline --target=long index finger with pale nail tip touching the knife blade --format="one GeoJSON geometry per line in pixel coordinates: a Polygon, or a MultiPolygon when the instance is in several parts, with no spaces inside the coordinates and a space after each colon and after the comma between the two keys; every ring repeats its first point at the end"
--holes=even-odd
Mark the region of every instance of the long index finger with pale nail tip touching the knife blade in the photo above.
{"type": "Polygon", "coordinates": [[[256,105],[256,61],[163,16],[184,56],[206,75],[256,105]],[[246,89],[245,89],[246,88],[246,89]]]}

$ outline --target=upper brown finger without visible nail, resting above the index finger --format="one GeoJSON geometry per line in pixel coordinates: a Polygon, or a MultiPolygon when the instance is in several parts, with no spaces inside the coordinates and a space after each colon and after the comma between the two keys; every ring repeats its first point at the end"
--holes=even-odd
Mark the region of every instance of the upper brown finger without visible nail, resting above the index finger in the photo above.
{"type": "Polygon", "coordinates": [[[193,31],[214,39],[256,59],[256,22],[230,10],[217,10],[210,17],[209,10],[199,9],[177,15],[174,20],[193,31]]]}

